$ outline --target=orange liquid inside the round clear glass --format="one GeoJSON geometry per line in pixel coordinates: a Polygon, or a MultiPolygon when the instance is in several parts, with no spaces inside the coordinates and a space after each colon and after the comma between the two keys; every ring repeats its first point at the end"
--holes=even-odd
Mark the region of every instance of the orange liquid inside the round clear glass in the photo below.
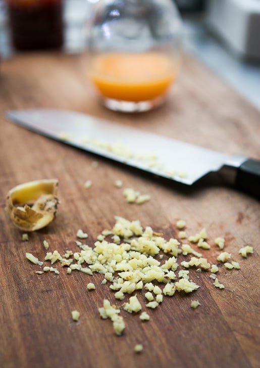
{"type": "Polygon", "coordinates": [[[172,59],[156,52],[98,55],[90,71],[90,79],[103,97],[132,102],[163,96],[175,78],[172,59]]]}

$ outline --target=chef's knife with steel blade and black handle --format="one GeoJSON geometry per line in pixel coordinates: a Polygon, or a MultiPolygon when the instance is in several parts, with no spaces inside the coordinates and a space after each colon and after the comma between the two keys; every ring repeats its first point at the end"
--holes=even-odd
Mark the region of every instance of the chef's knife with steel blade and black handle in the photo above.
{"type": "Polygon", "coordinates": [[[66,110],[7,112],[18,125],[85,151],[192,185],[210,172],[260,198],[260,161],[230,156],[166,136],[66,110]]]}

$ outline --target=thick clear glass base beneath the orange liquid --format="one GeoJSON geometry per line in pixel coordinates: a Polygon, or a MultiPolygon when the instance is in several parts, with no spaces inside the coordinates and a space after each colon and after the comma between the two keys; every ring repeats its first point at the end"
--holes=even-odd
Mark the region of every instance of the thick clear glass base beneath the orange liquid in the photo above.
{"type": "Polygon", "coordinates": [[[166,100],[165,96],[160,96],[149,101],[138,101],[138,102],[114,100],[107,97],[100,98],[101,104],[106,108],[113,111],[126,112],[126,113],[149,111],[156,107],[161,106],[165,102],[165,100],[166,100]]]}

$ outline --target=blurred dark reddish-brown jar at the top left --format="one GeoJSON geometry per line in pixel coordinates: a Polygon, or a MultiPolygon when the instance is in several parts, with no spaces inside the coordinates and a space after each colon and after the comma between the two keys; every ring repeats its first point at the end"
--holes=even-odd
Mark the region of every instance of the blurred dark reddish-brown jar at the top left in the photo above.
{"type": "Polygon", "coordinates": [[[63,3],[63,0],[6,0],[14,48],[61,48],[64,43],[63,3]]]}

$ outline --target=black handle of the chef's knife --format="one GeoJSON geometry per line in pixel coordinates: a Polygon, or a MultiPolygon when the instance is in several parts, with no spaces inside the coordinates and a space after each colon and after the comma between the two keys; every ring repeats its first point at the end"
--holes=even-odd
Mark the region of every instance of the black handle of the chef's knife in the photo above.
{"type": "Polygon", "coordinates": [[[260,161],[248,159],[237,169],[235,185],[241,191],[260,199],[260,161]]]}

